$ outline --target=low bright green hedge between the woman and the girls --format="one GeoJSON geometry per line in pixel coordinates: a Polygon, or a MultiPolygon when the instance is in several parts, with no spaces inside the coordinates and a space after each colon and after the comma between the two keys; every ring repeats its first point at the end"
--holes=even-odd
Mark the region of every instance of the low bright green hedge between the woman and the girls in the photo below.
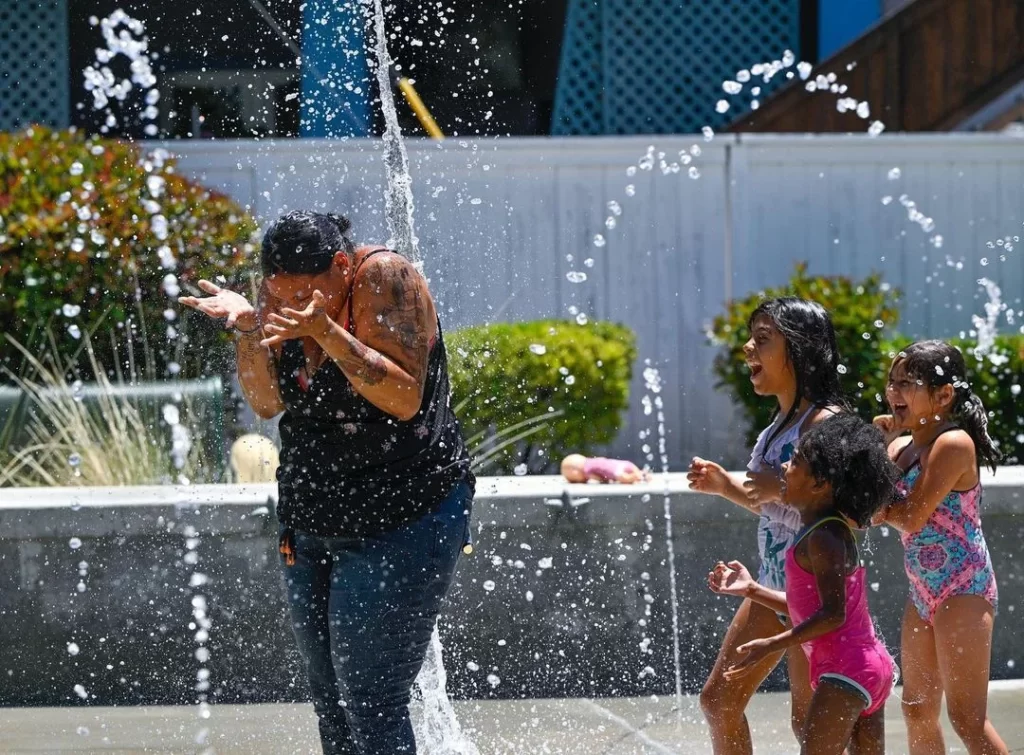
{"type": "Polygon", "coordinates": [[[629,406],[636,353],[633,332],[611,323],[502,323],[453,334],[453,394],[477,458],[496,450],[496,433],[510,439],[510,428],[536,429],[481,468],[510,473],[526,464],[545,471],[565,454],[610,443],[629,406]]]}

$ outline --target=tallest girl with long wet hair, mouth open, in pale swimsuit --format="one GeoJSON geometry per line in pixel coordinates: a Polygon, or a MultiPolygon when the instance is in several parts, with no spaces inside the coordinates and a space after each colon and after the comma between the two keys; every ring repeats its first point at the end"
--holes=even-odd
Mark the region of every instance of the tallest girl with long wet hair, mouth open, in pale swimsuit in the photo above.
{"type": "MultiPolygon", "coordinates": [[[[743,356],[751,369],[751,382],[758,395],[776,400],[775,417],[758,438],[745,479],[699,458],[693,460],[688,477],[693,490],[721,496],[760,517],[759,579],[772,589],[784,590],[785,551],[802,525],[799,512],[781,503],[782,465],[793,456],[801,433],[846,407],[839,384],[839,348],[828,312],[804,299],[767,300],[751,316],[748,327],[751,339],[743,346],[743,356]]],[[[777,634],[786,621],[760,603],[744,600],[729,625],[715,668],[700,693],[716,755],[753,752],[744,711],[783,655],[790,671],[793,729],[798,737],[803,730],[811,701],[803,653],[769,654],[742,678],[725,676],[738,660],[739,645],[777,634]]]]}

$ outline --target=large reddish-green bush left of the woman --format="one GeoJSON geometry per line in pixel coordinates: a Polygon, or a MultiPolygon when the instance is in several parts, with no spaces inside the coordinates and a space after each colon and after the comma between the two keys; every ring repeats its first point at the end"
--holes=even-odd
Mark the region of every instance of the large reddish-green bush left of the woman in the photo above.
{"type": "MultiPolygon", "coordinates": [[[[165,319],[174,293],[165,277],[182,288],[237,278],[255,230],[238,204],[178,175],[163,151],[41,126],[0,133],[0,331],[39,343],[53,326],[57,355],[75,362],[76,333],[117,328],[118,340],[152,358],[150,377],[175,360],[196,372],[217,329],[165,319]],[[162,350],[169,327],[184,332],[162,350]]],[[[109,369],[124,364],[110,341],[94,338],[109,369]]],[[[0,364],[10,354],[0,342],[0,364]]]]}

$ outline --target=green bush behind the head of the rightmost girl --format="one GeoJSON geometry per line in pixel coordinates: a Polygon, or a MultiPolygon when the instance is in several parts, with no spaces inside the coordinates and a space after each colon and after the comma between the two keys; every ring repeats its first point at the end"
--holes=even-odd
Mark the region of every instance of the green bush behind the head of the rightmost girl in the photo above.
{"type": "MultiPolygon", "coordinates": [[[[975,355],[976,341],[947,339],[964,353],[967,381],[988,412],[988,434],[1002,452],[1004,464],[1024,460],[1024,336],[997,336],[995,345],[981,359],[975,355]]],[[[897,336],[881,344],[879,369],[868,378],[867,389],[876,413],[885,409],[886,380],[889,366],[900,349],[912,341],[897,336]]]]}

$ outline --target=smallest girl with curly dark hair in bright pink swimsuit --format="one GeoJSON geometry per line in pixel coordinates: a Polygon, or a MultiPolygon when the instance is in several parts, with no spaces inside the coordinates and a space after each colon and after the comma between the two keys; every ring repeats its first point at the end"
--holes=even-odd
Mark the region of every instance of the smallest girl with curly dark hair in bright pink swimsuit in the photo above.
{"type": "Polygon", "coordinates": [[[848,521],[866,526],[892,500],[899,470],[882,432],[852,414],[825,419],[800,438],[785,465],[782,499],[803,529],[785,554],[785,592],[755,582],[738,561],[719,562],[708,584],[790,615],[793,628],[739,647],[726,674],[740,677],[765,656],[802,645],[814,696],[801,736],[804,755],[885,752],[885,703],[895,665],[874,633],[864,567],[848,521]]]}

